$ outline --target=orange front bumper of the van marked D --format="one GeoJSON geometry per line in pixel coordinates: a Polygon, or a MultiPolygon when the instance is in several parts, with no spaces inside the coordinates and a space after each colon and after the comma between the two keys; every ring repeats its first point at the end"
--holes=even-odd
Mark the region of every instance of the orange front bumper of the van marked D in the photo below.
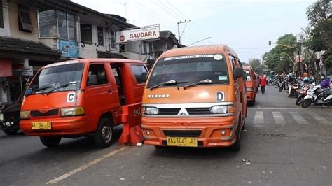
{"type": "Polygon", "coordinates": [[[146,145],[167,145],[167,137],[197,137],[198,147],[227,147],[236,141],[238,122],[227,117],[142,117],[141,128],[146,145]],[[221,130],[226,131],[221,135],[221,130]],[[167,132],[166,132],[167,131],[167,132]],[[172,132],[172,136],[169,133],[172,132]],[[192,134],[192,131],[200,131],[192,134]],[[181,136],[191,133],[192,136],[181,136]],[[175,136],[174,136],[175,135],[175,136]]]}

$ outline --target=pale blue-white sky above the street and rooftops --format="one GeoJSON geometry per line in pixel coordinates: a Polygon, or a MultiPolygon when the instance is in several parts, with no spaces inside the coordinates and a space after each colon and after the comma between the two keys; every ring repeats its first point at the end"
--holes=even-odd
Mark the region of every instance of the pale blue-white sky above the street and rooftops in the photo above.
{"type": "MultiPolygon", "coordinates": [[[[181,43],[190,45],[226,44],[243,62],[261,59],[279,36],[300,33],[307,27],[305,12],[313,0],[73,0],[102,13],[121,15],[137,26],[160,24],[160,30],[178,35],[181,43]]],[[[178,36],[177,36],[178,37],[178,36]]]]}

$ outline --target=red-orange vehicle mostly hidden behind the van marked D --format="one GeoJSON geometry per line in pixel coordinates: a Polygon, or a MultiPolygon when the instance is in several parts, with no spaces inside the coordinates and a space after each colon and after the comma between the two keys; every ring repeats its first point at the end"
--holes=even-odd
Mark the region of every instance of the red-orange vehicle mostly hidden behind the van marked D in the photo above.
{"type": "Polygon", "coordinates": [[[259,79],[256,78],[256,74],[251,66],[243,66],[243,71],[246,76],[247,101],[251,106],[254,106],[259,79]]]}

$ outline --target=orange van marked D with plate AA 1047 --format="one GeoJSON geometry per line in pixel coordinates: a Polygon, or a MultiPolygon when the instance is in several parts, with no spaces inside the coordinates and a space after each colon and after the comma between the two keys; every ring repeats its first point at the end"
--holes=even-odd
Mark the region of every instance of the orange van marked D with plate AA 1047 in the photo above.
{"type": "Polygon", "coordinates": [[[144,143],[240,150],[244,83],[240,59],[226,45],[168,50],[155,62],[144,90],[144,143]]]}

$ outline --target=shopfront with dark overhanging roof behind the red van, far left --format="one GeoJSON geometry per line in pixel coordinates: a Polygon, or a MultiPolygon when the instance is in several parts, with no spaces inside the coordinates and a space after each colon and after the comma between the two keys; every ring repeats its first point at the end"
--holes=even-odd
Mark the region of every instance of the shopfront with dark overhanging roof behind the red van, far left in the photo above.
{"type": "Polygon", "coordinates": [[[61,53],[34,41],[0,36],[0,103],[18,99],[41,66],[57,62],[61,53]]]}

